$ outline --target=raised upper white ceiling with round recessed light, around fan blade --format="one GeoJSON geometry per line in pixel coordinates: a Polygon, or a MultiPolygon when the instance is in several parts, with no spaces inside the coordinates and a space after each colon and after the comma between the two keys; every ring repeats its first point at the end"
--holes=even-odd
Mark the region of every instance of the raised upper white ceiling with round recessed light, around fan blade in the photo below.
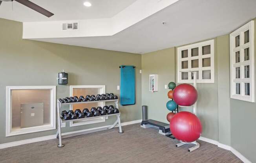
{"type": "Polygon", "coordinates": [[[79,20],[110,18],[119,13],[136,0],[30,0],[55,15],[46,16],[13,1],[2,2],[0,5],[0,18],[18,22],[41,22],[56,20],[79,20]],[[90,2],[91,7],[83,5],[90,2]]]}

